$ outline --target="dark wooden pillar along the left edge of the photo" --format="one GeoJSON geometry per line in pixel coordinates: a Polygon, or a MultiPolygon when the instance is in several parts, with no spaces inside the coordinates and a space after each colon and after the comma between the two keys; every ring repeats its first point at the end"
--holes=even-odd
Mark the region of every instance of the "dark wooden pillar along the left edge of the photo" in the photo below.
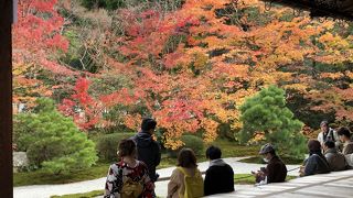
{"type": "Polygon", "coordinates": [[[12,0],[0,1],[0,196],[13,197],[12,176],[12,0]]]}

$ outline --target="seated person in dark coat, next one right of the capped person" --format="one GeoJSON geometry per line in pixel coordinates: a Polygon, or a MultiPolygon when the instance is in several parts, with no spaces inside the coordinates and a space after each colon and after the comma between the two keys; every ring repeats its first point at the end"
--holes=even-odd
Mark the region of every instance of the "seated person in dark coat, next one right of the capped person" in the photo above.
{"type": "Polygon", "coordinates": [[[317,140],[308,142],[309,157],[304,161],[301,176],[330,173],[330,165],[321,153],[321,144],[317,140]]]}

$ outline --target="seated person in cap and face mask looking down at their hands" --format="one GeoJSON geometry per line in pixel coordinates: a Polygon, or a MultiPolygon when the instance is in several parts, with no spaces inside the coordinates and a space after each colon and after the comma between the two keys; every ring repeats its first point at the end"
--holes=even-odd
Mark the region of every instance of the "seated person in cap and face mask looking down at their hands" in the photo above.
{"type": "Polygon", "coordinates": [[[259,154],[264,156],[264,161],[268,164],[266,168],[261,168],[257,173],[252,172],[256,177],[256,183],[263,185],[285,182],[287,177],[287,167],[276,155],[274,146],[269,143],[265,144],[259,154]]]}

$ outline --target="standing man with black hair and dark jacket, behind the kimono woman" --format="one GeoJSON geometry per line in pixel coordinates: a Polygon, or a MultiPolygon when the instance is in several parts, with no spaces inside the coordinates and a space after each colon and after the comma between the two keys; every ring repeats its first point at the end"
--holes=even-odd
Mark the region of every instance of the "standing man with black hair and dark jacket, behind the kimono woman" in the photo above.
{"type": "Polygon", "coordinates": [[[158,179],[156,167],[161,161],[160,145],[152,138],[156,125],[156,120],[150,118],[143,119],[141,123],[141,131],[132,138],[137,145],[138,160],[142,161],[147,165],[149,176],[153,183],[158,179]]]}

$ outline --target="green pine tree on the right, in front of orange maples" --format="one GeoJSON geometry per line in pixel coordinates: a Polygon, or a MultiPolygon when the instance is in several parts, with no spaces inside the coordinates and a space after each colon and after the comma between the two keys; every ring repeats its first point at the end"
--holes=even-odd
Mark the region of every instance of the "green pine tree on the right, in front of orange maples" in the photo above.
{"type": "Polygon", "coordinates": [[[306,139],[300,133],[303,123],[286,107],[285,91],[276,86],[263,89],[240,107],[243,129],[239,140],[248,142],[258,133],[278,146],[281,154],[302,157],[306,139]]]}

